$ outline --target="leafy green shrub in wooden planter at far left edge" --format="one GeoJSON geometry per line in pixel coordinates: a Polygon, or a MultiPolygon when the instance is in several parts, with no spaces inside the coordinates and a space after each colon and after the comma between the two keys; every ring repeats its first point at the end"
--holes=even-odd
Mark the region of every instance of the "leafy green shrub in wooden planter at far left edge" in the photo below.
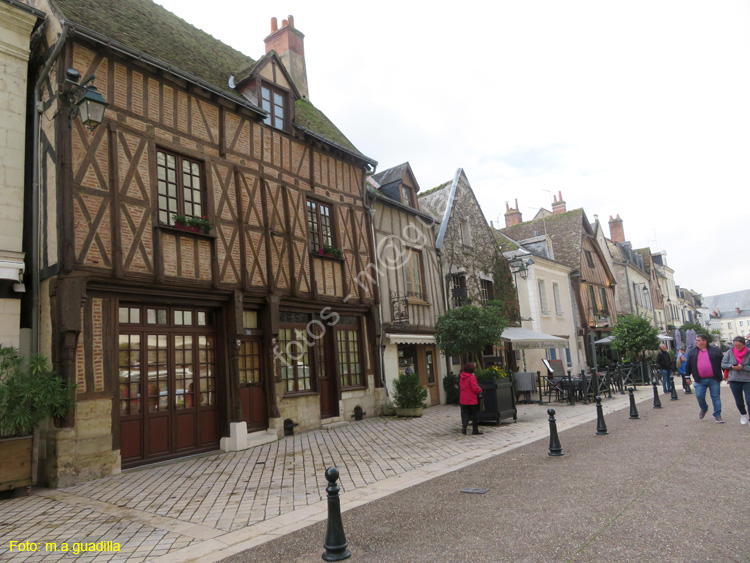
{"type": "Polygon", "coordinates": [[[34,482],[34,431],[47,418],[65,416],[74,393],[44,356],[26,360],[15,348],[0,346],[0,491],[34,482]]]}

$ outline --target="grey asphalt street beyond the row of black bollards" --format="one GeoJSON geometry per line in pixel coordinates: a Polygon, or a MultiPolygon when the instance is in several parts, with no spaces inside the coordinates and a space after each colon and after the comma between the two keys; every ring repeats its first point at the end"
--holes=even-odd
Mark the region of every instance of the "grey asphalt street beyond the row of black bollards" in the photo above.
{"type": "MultiPolygon", "coordinates": [[[[726,424],[681,391],[346,510],[350,561],[748,562],[750,427],[722,386],[726,424]],[[485,494],[460,492],[466,487],[485,494]]],[[[225,562],[321,561],[326,522],[225,562]]]]}

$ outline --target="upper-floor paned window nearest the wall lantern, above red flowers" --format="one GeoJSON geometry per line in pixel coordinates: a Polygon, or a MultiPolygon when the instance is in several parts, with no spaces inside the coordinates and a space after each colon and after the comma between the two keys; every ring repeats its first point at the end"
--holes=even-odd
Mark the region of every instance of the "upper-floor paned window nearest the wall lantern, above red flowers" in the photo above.
{"type": "Polygon", "coordinates": [[[159,222],[174,225],[175,215],[203,217],[201,163],[164,150],[156,151],[159,222]]]}

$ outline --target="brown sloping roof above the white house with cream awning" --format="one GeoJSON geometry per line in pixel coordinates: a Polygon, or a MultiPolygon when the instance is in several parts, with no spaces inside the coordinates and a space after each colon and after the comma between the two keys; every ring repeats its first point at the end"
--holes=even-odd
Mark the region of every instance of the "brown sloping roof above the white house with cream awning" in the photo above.
{"type": "Polygon", "coordinates": [[[565,213],[505,227],[500,229],[500,232],[517,241],[524,241],[546,232],[552,240],[555,260],[578,270],[581,267],[581,241],[583,240],[584,220],[583,209],[573,209],[565,213]]]}

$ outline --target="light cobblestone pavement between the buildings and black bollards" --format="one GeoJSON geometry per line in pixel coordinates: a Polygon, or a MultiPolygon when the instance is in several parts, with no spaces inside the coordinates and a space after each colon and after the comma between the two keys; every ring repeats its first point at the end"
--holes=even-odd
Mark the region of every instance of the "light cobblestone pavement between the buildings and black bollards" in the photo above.
{"type": "MultiPolygon", "coordinates": [[[[636,396],[639,402],[653,398],[650,389],[636,396]]],[[[627,416],[621,412],[627,395],[603,404],[605,415],[627,416]]],[[[593,405],[552,406],[559,430],[595,424],[593,405]]],[[[0,561],[216,561],[323,520],[327,467],[339,469],[342,508],[351,508],[544,438],[546,411],[546,405],[519,405],[517,424],[483,426],[483,436],[464,436],[458,407],[441,405],[420,419],[369,418],[241,452],[38,489],[0,501],[0,561]],[[38,548],[11,553],[10,541],[36,542],[38,548]],[[72,552],[74,543],[100,541],[121,549],[72,552]],[[63,542],[70,551],[63,551],[63,542]]]]}

